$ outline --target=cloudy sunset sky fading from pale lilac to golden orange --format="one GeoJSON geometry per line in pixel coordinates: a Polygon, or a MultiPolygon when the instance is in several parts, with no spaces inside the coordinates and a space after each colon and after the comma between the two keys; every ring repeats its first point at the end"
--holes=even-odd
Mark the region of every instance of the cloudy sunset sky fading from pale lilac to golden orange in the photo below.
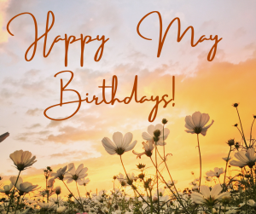
{"type": "MultiPolygon", "coordinates": [[[[256,3],[255,1],[0,1],[0,132],[9,131],[10,136],[0,144],[1,175],[3,182],[17,175],[9,154],[15,150],[30,151],[38,161],[21,176],[27,182],[44,188],[43,169],[51,166],[54,171],[74,163],[89,168],[90,184],[87,190],[96,192],[113,187],[112,177],[124,173],[118,155],[109,155],[102,147],[102,138],[112,138],[113,133],[131,132],[137,140],[134,148],[143,151],[143,131],[148,125],[160,124],[168,119],[166,127],[170,135],[166,151],[172,153],[167,164],[177,188],[189,187],[194,180],[191,171],[199,176],[199,154],[196,135],[186,133],[184,119],[196,111],[208,113],[214,123],[207,136],[200,136],[202,172],[224,167],[222,158],[229,153],[225,142],[241,136],[233,126],[239,120],[232,104],[239,102],[243,130],[249,138],[253,113],[256,113],[256,3]],[[38,37],[44,34],[48,11],[55,15],[55,23],[48,33],[46,49],[54,39],[81,34],[91,38],[109,38],[104,44],[100,61],[94,57],[101,41],[84,45],[84,66],[80,66],[80,41],[70,43],[65,67],[65,43],[55,43],[48,57],[44,57],[44,38],[38,41],[36,54],[31,61],[25,60],[26,49],[34,42],[35,26],[38,37]],[[205,40],[191,47],[190,31],[177,43],[177,22],[167,33],[165,43],[157,57],[160,20],[156,13],[148,15],[137,33],[137,24],[144,15],[158,11],[162,18],[163,33],[169,23],[178,17],[181,32],[194,27],[195,42],[205,35],[222,38],[212,61],[207,55],[214,41],[205,40]],[[7,24],[15,15],[19,17],[7,24]],[[88,93],[102,99],[102,81],[111,85],[113,75],[118,78],[116,97],[124,99],[131,95],[137,76],[138,97],[146,95],[169,95],[172,98],[172,76],[175,76],[174,101],[167,107],[160,103],[153,122],[148,115],[153,101],[144,103],[115,103],[95,105],[81,103],[79,112],[65,119],[78,107],[77,103],[49,110],[49,117],[65,119],[55,121],[44,116],[47,107],[60,103],[60,79],[67,84],[70,73],[55,77],[57,72],[72,71],[73,80],[67,89],[77,90],[82,99],[88,93]],[[175,103],[172,107],[172,103],[175,103]]],[[[49,24],[52,17],[49,18],[49,24]]],[[[30,58],[32,51],[28,52],[30,58]]],[[[63,101],[76,101],[73,91],[63,93],[63,101]]],[[[106,99],[111,99],[111,90],[106,89],[106,99]]],[[[253,136],[255,127],[253,128],[253,136]]],[[[233,155],[233,154],[232,154],[233,155]]],[[[131,152],[123,155],[126,171],[135,172],[138,163],[145,163],[148,176],[153,167],[148,157],[137,159],[131,152]]],[[[170,180],[166,174],[166,180],[170,180]]],[[[61,185],[55,182],[55,185],[61,185]]],[[[71,188],[75,191],[74,183],[71,188]]],[[[64,190],[64,193],[66,190],[64,190]]],[[[83,194],[85,190],[83,190],[83,194]],[[84,192],[83,192],[84,191],[84,192]]]]}

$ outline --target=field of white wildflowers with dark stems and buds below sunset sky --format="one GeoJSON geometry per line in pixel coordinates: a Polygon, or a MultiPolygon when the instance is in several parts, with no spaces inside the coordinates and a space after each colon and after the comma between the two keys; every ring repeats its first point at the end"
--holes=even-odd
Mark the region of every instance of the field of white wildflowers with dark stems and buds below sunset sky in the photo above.
{"type": "MultiPolygon", "coordinates": [[[[210,116],[207,113],[195,112],[185,118],[187,133],[196,138],[195,141],[200,171],[191,172],[195,180],[188,183],[188,188],[183,191],[176,186],[177,182],[172,177],[172,169],[166,160],[170,155],[166,151],[166,143],[170,130],[166,128],[167,119],[162,119],[162,124],[150,124],[148,130],[143,132],[142,152],[133,148],[134,141],[131,132],[123,135],[113,133],[113,141],[108,137],[102,138],[102,146],[110,155],[119,155],[119,164],[123,171],[113,175],[113,188],[102,189],[96,193],[86,191],[80,194],[82,188],[90,185],[88,168],[70,163],[58,171],[52,171],[50,166],[44,169],[45,187],[23,181],[22,172],[32,166],[37,160],[29,151],[15,151],[9,155],[12,159],[17,176],[11,176],[9,182],[1,183],[0,211],[1,213],[256,213],[256,154],[255,139],[253,139],[253,116],[250,136],[244,135],[241,117],[236,108],[238,123],[234,125],[241,134],[241,142],[229,139],[227,143],[227,156],[225,168],[214,168],[201,173],[201,137],[207,137],[207,131],[214,121],[208,123],[210,116]],[[235,152],[234,158],[230,153],[235,152]],[[140,159],[145,155],[151,160],[154,174],[146,173],[148,165],[140,163],[137,171],[126,171],[122,159],[124,153],[133,153],[134,158],[140,159]],[[164,176],[163,172],[167,173],[164,176]],[[63,183],[69,194],[62,194],[58,183],[63,183]],[[207,183],[207,185],[202,185],[207,183]],[[70,187],[75,185],[77,192],[72,192],[70,187]],[[129,194],[127,190],[129,189],[129,194]],[[131,191],[133,194],[131,194],[131,191]]],[[[184,134],[186,134],[184,132],[184,134]]],[[[3,142],[9,133],[0,136],[3,142]]],[[[1,180],[3,177],[1,177],[1,180]]],[[[109,181],[111,182],[111,181],[109,181]]]]}

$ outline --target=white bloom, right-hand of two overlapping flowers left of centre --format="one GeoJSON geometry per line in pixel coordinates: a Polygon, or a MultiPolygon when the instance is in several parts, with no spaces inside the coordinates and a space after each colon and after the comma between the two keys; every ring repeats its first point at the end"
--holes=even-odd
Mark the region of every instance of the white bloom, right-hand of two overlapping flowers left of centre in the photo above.
{"type": "Polygon", "coordinates": [[[67,172],[64,177],[64,181],[67,180],[67,183],[69,182],[79,182],[82,178],[85,176],[88,176],[86,173],[88,171],[87,167],[84,167],[84,164],[79,165],[78,169],[76,170],[73,166],[72,170],[67,172]]]}

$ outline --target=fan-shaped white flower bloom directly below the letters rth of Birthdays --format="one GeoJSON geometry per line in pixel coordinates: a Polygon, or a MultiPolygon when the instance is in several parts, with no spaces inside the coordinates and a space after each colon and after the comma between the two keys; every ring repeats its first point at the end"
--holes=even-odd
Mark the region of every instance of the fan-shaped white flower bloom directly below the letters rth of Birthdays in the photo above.
{"type": "Polygon", "coordinates": [[[125,136],[121,132],[114,132],[113,142],[108,137],[104,137],[102,139],[102,145],[105,147],[107,153],[111,155],[115,153],[122,155],[135,147],[137,141],[131,142],[132,137],[131,132],[126,133],[125,136]]]}

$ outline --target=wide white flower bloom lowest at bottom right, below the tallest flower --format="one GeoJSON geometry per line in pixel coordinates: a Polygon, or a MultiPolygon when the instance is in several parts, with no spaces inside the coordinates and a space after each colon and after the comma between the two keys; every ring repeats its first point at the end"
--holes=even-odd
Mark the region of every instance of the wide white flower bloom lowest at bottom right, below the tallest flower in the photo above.
{"type": "Polygon", "coordinates": [[[230,197],[230,193],[224,192],[220,194],[222,191],[222,187],[220,184],[215,185],[210,191],[208,186],[202,185],[200,188],[200,193],[192,193],[191,198],[194,200],[196,204],[207,204],[207,205],[215,205],[218,200],[221,200],[224,197],[230,197]]]}

